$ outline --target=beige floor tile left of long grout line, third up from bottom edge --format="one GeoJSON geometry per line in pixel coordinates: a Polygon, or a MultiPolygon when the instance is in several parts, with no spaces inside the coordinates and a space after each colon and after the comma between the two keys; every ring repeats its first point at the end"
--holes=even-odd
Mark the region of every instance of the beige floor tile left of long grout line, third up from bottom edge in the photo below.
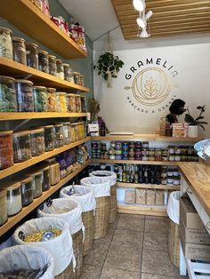
{"type": "Polygon", "coordinates": [[[143,232],[131,229],[116,229],[111,244],[116,246],[142,248],[143,232]]]}

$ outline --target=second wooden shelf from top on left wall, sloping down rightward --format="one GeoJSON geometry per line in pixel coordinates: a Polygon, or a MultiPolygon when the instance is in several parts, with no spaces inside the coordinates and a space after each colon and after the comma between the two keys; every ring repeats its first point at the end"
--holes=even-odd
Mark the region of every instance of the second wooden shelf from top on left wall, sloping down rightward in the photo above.
{"type": "MultiPolygon", "coordinates": [[[[1,4],[0,4],[1,5],[1,4]]],[[[30,68],[13,60],[0,57],[0,75],[16,78],[29,78],[35,85],[55,87],[65,92],[80,91],[89,92],[89,88],[62,80],[56,76],[46,74],[36,68],[30,68]],[[29,75],[29,76],[28,76],[29,75]]]]}

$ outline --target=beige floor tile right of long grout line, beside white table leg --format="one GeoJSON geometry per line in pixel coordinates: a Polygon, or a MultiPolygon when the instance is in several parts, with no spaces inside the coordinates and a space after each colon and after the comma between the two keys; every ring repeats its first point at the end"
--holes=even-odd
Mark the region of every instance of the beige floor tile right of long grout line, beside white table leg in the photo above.
{"type": "Polygon", "coordinates": [[[143,250],[141,272],[182,278],[179,276],[179,269],[171,263],[166,251],[143,250]]]}

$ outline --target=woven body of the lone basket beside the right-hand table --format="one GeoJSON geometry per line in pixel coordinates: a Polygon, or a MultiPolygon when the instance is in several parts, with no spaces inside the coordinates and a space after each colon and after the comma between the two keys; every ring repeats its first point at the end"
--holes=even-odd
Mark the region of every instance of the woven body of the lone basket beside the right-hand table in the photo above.
{"type": "Polygon", "coordinates": [[[179,225],[170,220],[170,230],[168,235],[168,252],[175,267],[180,266],[180,235],[179,225]]]}

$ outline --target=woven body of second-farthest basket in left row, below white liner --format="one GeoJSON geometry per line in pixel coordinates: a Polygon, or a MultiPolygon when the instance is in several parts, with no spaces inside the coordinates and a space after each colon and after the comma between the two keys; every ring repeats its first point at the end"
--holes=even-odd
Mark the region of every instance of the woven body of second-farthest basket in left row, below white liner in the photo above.
{"type": "Polygon", "coordinates": [[[94,239],[104,237],[109,228],[109,196],[96,197],[96,210],[94,215],[94,239]]]}

